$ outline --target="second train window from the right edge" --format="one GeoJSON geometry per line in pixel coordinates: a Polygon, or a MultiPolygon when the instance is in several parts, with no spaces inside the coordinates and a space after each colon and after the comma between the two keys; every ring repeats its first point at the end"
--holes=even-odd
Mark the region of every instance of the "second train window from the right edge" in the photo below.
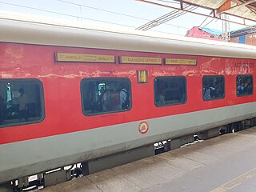
{"type": "Polygon", "coordinates": [[[202,77],[202,98],[205,101],[225,97],[225,78],[223,75],[206,75],[202,77]]]}

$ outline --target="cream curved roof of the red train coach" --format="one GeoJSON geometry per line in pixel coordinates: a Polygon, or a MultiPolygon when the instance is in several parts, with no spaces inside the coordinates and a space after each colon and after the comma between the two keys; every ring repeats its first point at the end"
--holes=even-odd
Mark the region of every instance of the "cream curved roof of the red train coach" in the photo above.
{"type": "Polygon", "coordinates": [[[137,30],[85,26],[82,23],[0,14],[0,42],[74,46],[166,54],[256,58],[256,47],[137,30]]]}

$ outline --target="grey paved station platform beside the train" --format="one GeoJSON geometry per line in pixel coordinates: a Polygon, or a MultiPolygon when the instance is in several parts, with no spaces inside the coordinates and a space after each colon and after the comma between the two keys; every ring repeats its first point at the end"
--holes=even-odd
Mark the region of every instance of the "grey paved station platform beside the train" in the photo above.
{"type": "Polygon", "coordinates": [[[39,191],[255,192],[256,127],[39,191]]]}

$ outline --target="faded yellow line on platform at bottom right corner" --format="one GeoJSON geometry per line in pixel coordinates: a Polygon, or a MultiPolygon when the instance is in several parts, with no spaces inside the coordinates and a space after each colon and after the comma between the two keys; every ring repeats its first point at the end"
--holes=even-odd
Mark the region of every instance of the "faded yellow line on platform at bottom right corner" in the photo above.
{"type": "Polygon", "coordinates": [[[249,170],[248,172],[238,176],[237,178],[232,179],[230,182],[224,183],[222,186],[219,186],[214,190],[210,190],[210,192],[226,192],[228,190],[233,189],[236,186],[241,185],[242,182],[245,182],[246,180],[253,178],[254,175],[256,175],[256,168],[254,168],[253,170],[249,170]]]}

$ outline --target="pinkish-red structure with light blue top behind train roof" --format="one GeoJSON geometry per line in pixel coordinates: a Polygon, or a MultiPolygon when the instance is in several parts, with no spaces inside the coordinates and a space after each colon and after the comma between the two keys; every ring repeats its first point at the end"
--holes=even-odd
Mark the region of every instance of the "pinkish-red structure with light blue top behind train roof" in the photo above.
{"type": "Polygon", "coordinates": [[[224,41],[222,39],[223,32],[221,30],[211,30],[206,27],[194,26],[191,30],[187,31],[186,37],[192,38],[206,38],[215,41],[224,41]]]}

